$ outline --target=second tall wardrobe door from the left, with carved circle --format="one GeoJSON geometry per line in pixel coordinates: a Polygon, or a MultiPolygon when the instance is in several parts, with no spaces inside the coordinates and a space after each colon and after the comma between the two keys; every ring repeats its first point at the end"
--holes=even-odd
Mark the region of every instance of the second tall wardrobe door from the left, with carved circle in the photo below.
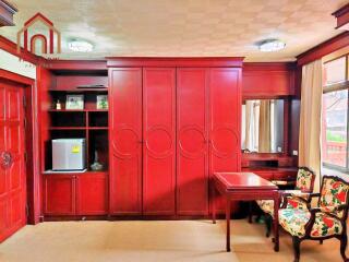
{"type": "Polygon", "coordinates": [[[143,211],[174,215],[176,69],[143,70],[143,211]]]}

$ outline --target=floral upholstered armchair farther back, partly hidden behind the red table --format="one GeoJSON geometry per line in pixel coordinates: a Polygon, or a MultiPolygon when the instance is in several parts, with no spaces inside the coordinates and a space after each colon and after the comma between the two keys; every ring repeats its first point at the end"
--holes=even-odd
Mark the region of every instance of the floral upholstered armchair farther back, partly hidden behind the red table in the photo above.
{"type": "MultiPolygon", "coordinates": [[[[292,192],[313,192],[315,181],[315,174],[308,167],[299,167],[296,180],[296,187],[293,190],[287,190],[285,192],[280,191],[280,196],[284,201],[280,201],[280,209],[308,209],[306,202],[310,199],[304,199],[305,201],[300,201],[299,198],[292,198],[292,192]],[[287,201],[286,201],[287,199],[287,201]]],[[[278,181],[272,181],[278,184],[278,181]]],[[[266,224],[266,237],[269,237],[270,229],[274,218],[274,200],[257,200],[257,205],[266,214],[265,224],[266,224]]]]}

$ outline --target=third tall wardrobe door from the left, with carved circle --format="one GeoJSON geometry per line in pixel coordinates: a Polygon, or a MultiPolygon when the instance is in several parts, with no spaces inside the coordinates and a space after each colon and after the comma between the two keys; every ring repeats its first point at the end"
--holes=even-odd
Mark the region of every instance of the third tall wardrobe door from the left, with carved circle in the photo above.
{"type": "Polygon", "coordinates": [[[177,71],[177,212],[208,214],[207,69],[177,71]]]}

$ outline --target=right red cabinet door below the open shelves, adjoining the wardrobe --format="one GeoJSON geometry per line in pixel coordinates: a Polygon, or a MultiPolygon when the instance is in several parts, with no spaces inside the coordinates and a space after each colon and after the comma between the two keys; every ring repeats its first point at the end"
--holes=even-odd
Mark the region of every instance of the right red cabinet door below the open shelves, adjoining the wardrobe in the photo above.
{"type": "Polygon", "coordinates": [[[108,177],[105,172],[76,176],[76,214],[105,215],[108,212],[108,177]]]}

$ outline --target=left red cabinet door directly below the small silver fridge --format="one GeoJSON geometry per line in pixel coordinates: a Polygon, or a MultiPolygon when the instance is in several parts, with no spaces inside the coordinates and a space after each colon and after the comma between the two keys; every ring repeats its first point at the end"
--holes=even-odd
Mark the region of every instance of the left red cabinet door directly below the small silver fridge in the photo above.
{"type": "Polygon", "coordinates": [[[75,176],[44,176],[45,215],[74,215],[75,210],[75,176]]]}

